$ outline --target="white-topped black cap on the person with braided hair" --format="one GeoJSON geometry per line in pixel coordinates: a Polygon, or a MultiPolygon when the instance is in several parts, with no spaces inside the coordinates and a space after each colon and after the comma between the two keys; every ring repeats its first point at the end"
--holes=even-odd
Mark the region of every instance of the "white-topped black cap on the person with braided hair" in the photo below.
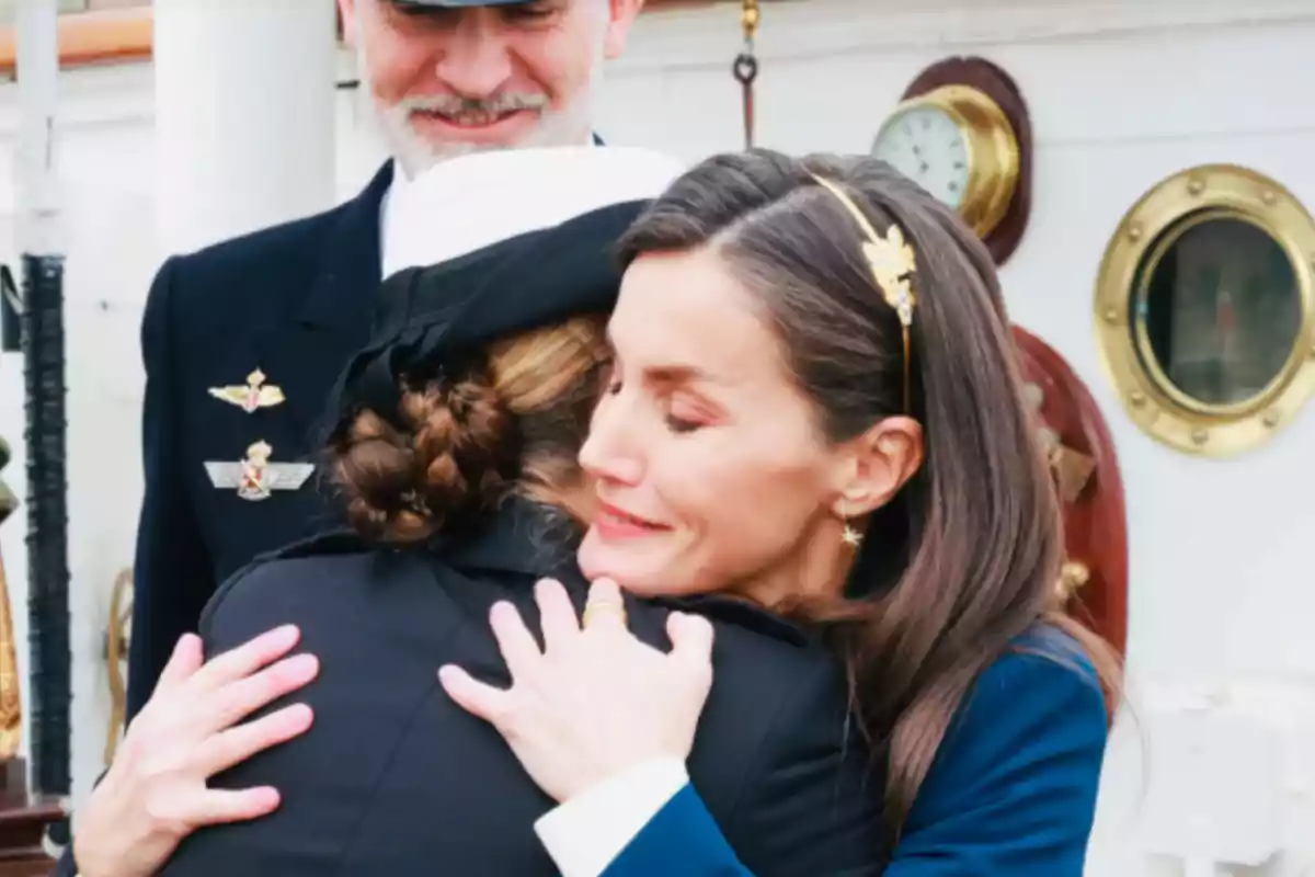
{"type": "MultiPolygon", "coordinates": [[[[650,150],[497,150],[441,162],[398,192],[372,342],[339,376],[341,430],[371,409],[400,422],[401,392],[455,376],[484,347],[605,313],[621,285],[614,245],[682,172],[650,150]]],[[[337,433],[329,426],[330,435],[337,433]]]]}

